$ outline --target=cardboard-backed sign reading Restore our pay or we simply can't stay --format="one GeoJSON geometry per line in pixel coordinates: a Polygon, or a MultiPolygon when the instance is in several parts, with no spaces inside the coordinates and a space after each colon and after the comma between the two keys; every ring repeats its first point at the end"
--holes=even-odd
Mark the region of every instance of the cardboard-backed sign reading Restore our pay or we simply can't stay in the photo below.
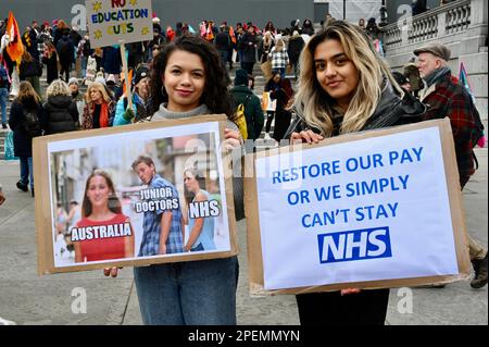
{"type": "Polygon", "coordinates": [[[400,287],[469,273],[448,120],[258,153],[246,213],[253,293],[400,287]]]}

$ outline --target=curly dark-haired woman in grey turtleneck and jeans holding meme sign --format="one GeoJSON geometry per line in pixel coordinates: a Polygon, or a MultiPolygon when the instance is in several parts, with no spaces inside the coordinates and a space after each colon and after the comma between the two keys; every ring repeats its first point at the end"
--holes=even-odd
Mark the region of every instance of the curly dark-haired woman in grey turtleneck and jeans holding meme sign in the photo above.
{"type": "MultiPolygon", "coordinates": [[[[180,36],[154,58],[152,121],[202,114],[231,115],[229,77],[215,47],[196,36],[180,36]]],[[[226,147],[241,145],[238,127],[227,122],[226,147]]],[[[236,324],[237,257],[135,268],[145,324],[236,324]]],[[[116,268],[105,275],[116,276],[116,268]]]]}

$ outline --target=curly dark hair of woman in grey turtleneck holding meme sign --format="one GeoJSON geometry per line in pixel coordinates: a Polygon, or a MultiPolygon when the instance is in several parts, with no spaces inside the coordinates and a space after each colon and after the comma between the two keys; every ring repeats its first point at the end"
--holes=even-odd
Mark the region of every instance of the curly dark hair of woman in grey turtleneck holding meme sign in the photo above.
{"type": "Polygon", "coordinates": [[[217,50],[204,39],[191,35],[177,37],[154,57],[151,69],[153,112],[158,112],[161,103],[168,101],[168,96],[162,92],[162,77],[170,55],[176,50],[197,54],[202,60],[205,69],[205,85],[200,103],[205,104],[212,113],[225,113],[228,117],[233,116],[230,97],[227,89],[230,79],[227,71],[221,64],[221,57],[217,50]]]}

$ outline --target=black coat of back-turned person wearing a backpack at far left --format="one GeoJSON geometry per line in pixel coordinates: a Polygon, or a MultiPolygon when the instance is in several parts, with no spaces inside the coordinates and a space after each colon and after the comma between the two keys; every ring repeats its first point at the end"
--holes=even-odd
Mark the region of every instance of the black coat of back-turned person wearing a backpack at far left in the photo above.
{"type": "Polygon", "coordinates": [[[33,157],[33,138],[25,133],[24,110],[33,110],[39,120],[42,119],[42,106],[36,103],[34,98],[26,99],[21,103],[17,99],[12,102],[10,109],[9,126],[13,131],[14,156],[33,157]]]}

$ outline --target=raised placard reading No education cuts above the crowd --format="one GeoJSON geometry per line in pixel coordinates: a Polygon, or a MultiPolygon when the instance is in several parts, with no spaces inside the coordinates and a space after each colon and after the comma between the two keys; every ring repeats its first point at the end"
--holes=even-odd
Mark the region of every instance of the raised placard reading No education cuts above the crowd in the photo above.
{"type": "Polygon", "coordinates": [[[153,39],[151,0],[87,0],[91,48],[153,39]]]}

